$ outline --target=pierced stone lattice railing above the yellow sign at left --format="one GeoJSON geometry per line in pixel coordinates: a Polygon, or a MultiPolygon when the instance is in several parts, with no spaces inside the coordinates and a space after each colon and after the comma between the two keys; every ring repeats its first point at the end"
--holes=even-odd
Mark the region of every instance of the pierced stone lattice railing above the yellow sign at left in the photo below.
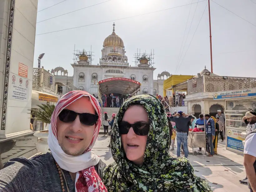
{"type": "Polygon", "coordinates": [[[43,68],[33,68],[32,87],[43,87],[55,91],[55,77],[43,68]],[[52,84],[50,84],[50,76],[52,76],[52,84]]]}

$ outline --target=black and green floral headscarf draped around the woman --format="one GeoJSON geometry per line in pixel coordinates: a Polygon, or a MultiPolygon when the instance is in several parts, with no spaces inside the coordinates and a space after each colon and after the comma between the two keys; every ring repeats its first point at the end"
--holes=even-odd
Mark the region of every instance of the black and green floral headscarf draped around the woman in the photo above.
{"type": "Polygon", "coordinates": [[[127,99],[119,109],[111,132],[111,152],[114,163],[103,172],[103,182],[109,192],[211,192],[208,182],[194,175],[186,158],[172,158],[169,153],[169,128],[165,110],[151,95],[137,95],[127,99]],[[150,130],[143,165],[126,158],[118,128],[131,105],[142,105],[150,119],[150,130]]]}

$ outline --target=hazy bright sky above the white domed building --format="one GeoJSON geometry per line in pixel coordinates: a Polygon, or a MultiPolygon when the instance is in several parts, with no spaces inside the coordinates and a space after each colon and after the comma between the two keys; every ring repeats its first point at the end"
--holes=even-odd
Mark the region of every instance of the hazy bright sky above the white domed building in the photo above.
{"type": "MultiPolygon", "coordinates": [[[[154,79],[163,71],[196,75],[204,66],[211,68],[206,0],[62,1],[38,0],[34,67],[38,55],[45,53],[41,66],[46,70],[61,66],[72,76],[74,46],[92,49],[92,64],[97,65],[103,41],[115,22],[130,65],[137,49],[147,53],[154,49],[154,79]],[[77,9],[81,10],[56,17],[77,9]],[[73,27],[79,28],[69,29],[73,27]]],[[[256,77],[256,0],[210,0],[210,12],[213,72],[256,77]]]]}

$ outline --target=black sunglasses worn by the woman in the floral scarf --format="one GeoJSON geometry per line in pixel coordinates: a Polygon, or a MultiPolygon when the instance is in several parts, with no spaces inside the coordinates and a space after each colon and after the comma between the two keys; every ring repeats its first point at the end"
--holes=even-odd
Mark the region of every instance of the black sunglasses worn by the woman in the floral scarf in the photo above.
{"type": "Polygon", "coordinates": [[[136,135],[147,135],[149,132],[149,123],[137,122],[134,124],[130,124],[128,122],[119,122],[118,123],[119,132],[121,135],[125,135],[129,132],[130,127],[133,128],[133,131],[136,135]]]}

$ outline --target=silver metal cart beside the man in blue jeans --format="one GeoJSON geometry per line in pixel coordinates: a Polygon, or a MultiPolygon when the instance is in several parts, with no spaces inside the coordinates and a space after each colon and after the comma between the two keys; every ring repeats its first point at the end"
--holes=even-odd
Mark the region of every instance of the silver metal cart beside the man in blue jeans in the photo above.
{"type": "Polygon", "coordinates": [[[194,155],[194,147],[204,147],[205,155],[206,155],[206,139],[205,132],[193,132],[190,131],[188,135],[188,146],[192,147],[193,155],[194,155]]]}

